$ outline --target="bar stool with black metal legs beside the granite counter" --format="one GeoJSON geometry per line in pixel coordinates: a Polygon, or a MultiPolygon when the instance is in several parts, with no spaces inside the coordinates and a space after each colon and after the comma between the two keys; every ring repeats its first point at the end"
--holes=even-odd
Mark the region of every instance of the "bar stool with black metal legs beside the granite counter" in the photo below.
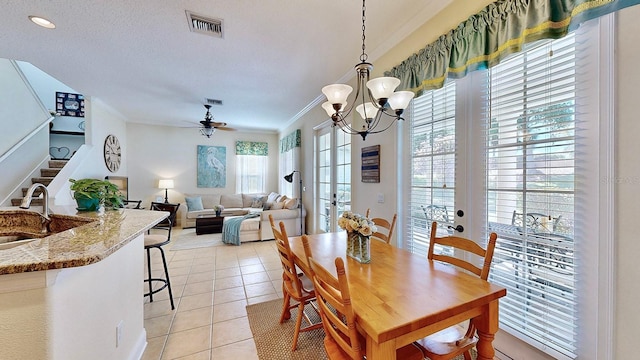
{"type": "Polygon", "coordinates": [[[172,215],[175,214],[178,211],[178,207],[180,206],[180,204],[162,204],[163,206],[156,206],[156,204],[152,204],[151,206],[151,210],[158,210],[158,211],[169,211],[171,213],[171,215],[169,215],[169,217],[159,223],[158,225],[154,226],[152,228],[152,230],[164,230],[166,231],[166,234],[151,234],[151,232],[147,232],[147,234],[144,235],[144,249],[147,252],[147,278],[144,280],[144,282],[149,284],[149,292],[145,293],[144,296],[148,296],[149,297],[149,301],[153,302],[153,294],[164,290],[165,288],[167,288],[169,290],[169,301],[171,302],[171,310],[175,309],[175,305],[173,304],[173,293],[171,292],[171,280],[169,278],[169,269],[167,268],[167,260],[166,257],[164,255],[164,250],[162,249],[162,247],[166,244],[168,244],[171,241],[171,229],[173,228],[173,222],[172,222],[172,215]],[[158,249],[160,250],[160,255],[162,256],[162,265],[164,266],[164,275],[165,278],[154,278],[151,275],[151,249],[158,249]],[[153,284],[154,283],[161,283],[162,286],[160,286],[157,289],[153,289],[153,284]]]}

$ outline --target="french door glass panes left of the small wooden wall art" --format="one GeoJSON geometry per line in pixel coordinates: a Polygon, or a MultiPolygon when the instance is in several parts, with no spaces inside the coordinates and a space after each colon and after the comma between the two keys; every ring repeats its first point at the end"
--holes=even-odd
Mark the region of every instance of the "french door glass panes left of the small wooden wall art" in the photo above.
{"type": "Polygon", "coordinates": [[[338,230],[338,217],[351,210],[351,136],[332,126],[316,130],[316,229],[338,230]]]}

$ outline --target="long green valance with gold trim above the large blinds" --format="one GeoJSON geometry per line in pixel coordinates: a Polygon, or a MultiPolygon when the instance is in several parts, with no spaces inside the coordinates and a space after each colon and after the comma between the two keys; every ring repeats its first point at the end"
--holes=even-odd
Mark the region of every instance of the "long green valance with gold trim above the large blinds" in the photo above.
{"type": "Polygon", "coordinates": [[[581,23],[640,0],[499,0],[385,72],[416,95],[441,88],[447,77],[496,65],[526,43],[565,36],[581,23]]]}

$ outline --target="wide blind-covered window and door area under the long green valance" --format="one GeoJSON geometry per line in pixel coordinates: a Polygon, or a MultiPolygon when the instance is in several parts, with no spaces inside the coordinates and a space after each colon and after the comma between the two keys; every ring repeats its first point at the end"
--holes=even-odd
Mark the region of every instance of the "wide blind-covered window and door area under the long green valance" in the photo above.
{"type": "Polygon", "coordinates": [[[601,50],[612,27],[602,19],[427,92],[408,117],[407,247],[426,252],[422,204],[446,204],[449,222],[480,243],[495,231],[500,328],[559,359],[596,358],[607,337],[594,334],[611,326],[611,304],[593,293],[611,288],[599,251],[613,249],[610,221],[594,221],[611,216],[601,202],[612,196],[600,182],[613,161],[603,133],[612,95],[600,90],[612,86],[601,50]]]}

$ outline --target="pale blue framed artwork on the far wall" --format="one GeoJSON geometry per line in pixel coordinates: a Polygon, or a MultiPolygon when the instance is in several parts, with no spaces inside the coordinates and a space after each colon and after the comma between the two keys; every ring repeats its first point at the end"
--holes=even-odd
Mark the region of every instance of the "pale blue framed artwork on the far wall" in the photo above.
{"type": "Polygon", "coordinates": [[[198,187],[227,187],[227,148],[198,145],[198,187]]]}

